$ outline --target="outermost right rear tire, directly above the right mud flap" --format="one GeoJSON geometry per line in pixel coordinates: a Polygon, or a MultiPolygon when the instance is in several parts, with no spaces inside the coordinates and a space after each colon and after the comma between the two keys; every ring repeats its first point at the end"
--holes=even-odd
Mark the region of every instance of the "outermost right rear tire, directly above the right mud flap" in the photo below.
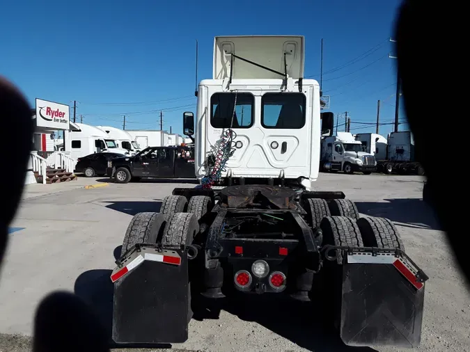
{"type": "Polygon", "coordinates": [[[398,229],[388,218],[366,217],[357,219],[364,246],[400,248],[405,251],[398,229]]]}

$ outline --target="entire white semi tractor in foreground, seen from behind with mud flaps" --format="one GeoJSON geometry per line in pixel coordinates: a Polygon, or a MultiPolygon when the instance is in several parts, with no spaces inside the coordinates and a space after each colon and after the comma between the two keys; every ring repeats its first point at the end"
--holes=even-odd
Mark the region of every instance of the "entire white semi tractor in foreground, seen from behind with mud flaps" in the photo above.
{"type": "Polygon", "coordinates": [[[347,345],[418,346],[428,277],[396,227],[313,190],[333,126],[303,79],[304,37],[216,37],[213,62],[196,123],[183,115],[200,184],[132,218],[111,274],[114,342],[185,342],[200,304],[258,294],[303,302],[347,345]]]}

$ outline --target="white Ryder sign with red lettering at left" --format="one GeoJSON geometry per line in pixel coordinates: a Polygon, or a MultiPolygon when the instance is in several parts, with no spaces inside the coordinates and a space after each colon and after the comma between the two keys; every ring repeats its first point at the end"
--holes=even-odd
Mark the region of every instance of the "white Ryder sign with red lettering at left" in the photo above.
{"type": "Polygon", "coordinates": [[[69,106],[36,98],[36,125],[51,129],[69,129],[69,106]]]}

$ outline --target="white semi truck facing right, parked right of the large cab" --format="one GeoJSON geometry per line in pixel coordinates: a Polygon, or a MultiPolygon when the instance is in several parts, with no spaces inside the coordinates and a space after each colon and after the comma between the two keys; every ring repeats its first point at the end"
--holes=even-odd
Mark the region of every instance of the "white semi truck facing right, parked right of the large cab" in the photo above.
{"type": "Polygon", "coordinates": [[[370,152],[363,152],[362,144],[349,132],[337,132],[336,136],[322,139],[320,170],[352,174],[355,171],[370,175],[377,161],[370,152]]]}

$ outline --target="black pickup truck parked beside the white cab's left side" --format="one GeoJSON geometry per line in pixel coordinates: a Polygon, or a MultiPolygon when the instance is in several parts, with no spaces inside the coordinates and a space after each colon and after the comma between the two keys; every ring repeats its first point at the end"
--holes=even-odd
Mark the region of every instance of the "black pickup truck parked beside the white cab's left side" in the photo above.
{"type": "Polygon", "coordinates": [[[147,147],[132,157],[108,161],[107,175],[116,183],[151,178],[196,178],[194,146],[147,147]]]}

